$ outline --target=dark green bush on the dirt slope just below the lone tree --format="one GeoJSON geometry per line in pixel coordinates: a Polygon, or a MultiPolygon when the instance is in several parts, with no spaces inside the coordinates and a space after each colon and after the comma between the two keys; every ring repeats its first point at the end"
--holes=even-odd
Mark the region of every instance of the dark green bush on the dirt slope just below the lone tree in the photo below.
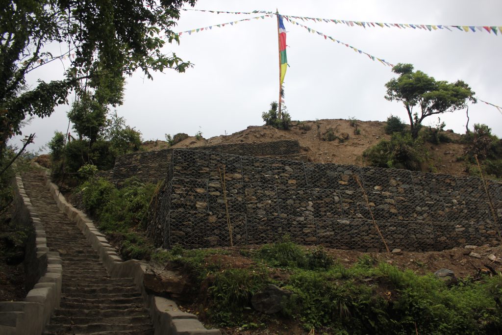
{"type": "Polygon", "coordinates": [[[363,151],[362,156],[371,166],[420,171],[427,150],[420,140],[410,134],[394,133],[390,140],[382,140],[363,151]]]}

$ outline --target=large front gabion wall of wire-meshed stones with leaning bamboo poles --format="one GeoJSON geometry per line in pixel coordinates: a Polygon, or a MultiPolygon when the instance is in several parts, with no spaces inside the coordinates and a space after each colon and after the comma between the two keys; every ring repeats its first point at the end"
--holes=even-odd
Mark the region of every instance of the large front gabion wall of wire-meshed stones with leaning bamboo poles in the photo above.
{"type": "MultiPolygon", "coordinates": [[[[502,184],[489,181],[489,192],[500,222],[502,184]]],[[[149,235],[165,248],[229,246],[226,208],[236,246],[289,235],[304,245],[385,250],[371,214],[391,249],[499,243],[479,178],[199,150],[172,152],[149,235]]]]}

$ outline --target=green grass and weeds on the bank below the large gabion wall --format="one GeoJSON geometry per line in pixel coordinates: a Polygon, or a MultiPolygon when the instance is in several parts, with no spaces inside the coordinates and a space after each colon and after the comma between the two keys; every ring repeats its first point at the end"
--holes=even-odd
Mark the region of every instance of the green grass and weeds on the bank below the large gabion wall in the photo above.
{"type": "Polygon", "coordinates": [[[252,261],[244,268],[232,268],[214,257],[228,253],[176,247],[153,258],[192,273],[194,299],[218,326],[260,327],[281,317],[299,321],[306,330],[330,334],[502,332],[502,306],[497,303],[502,298],[501,274],[448,284],[432,274],[402,271],[368,256],[345,268],[322,249],[307,251],[289,241],[242,250],[252,261]],[[271,316],[253,311],[251,297],[271,283],[292,293],[282,311],[271,316]]]}

